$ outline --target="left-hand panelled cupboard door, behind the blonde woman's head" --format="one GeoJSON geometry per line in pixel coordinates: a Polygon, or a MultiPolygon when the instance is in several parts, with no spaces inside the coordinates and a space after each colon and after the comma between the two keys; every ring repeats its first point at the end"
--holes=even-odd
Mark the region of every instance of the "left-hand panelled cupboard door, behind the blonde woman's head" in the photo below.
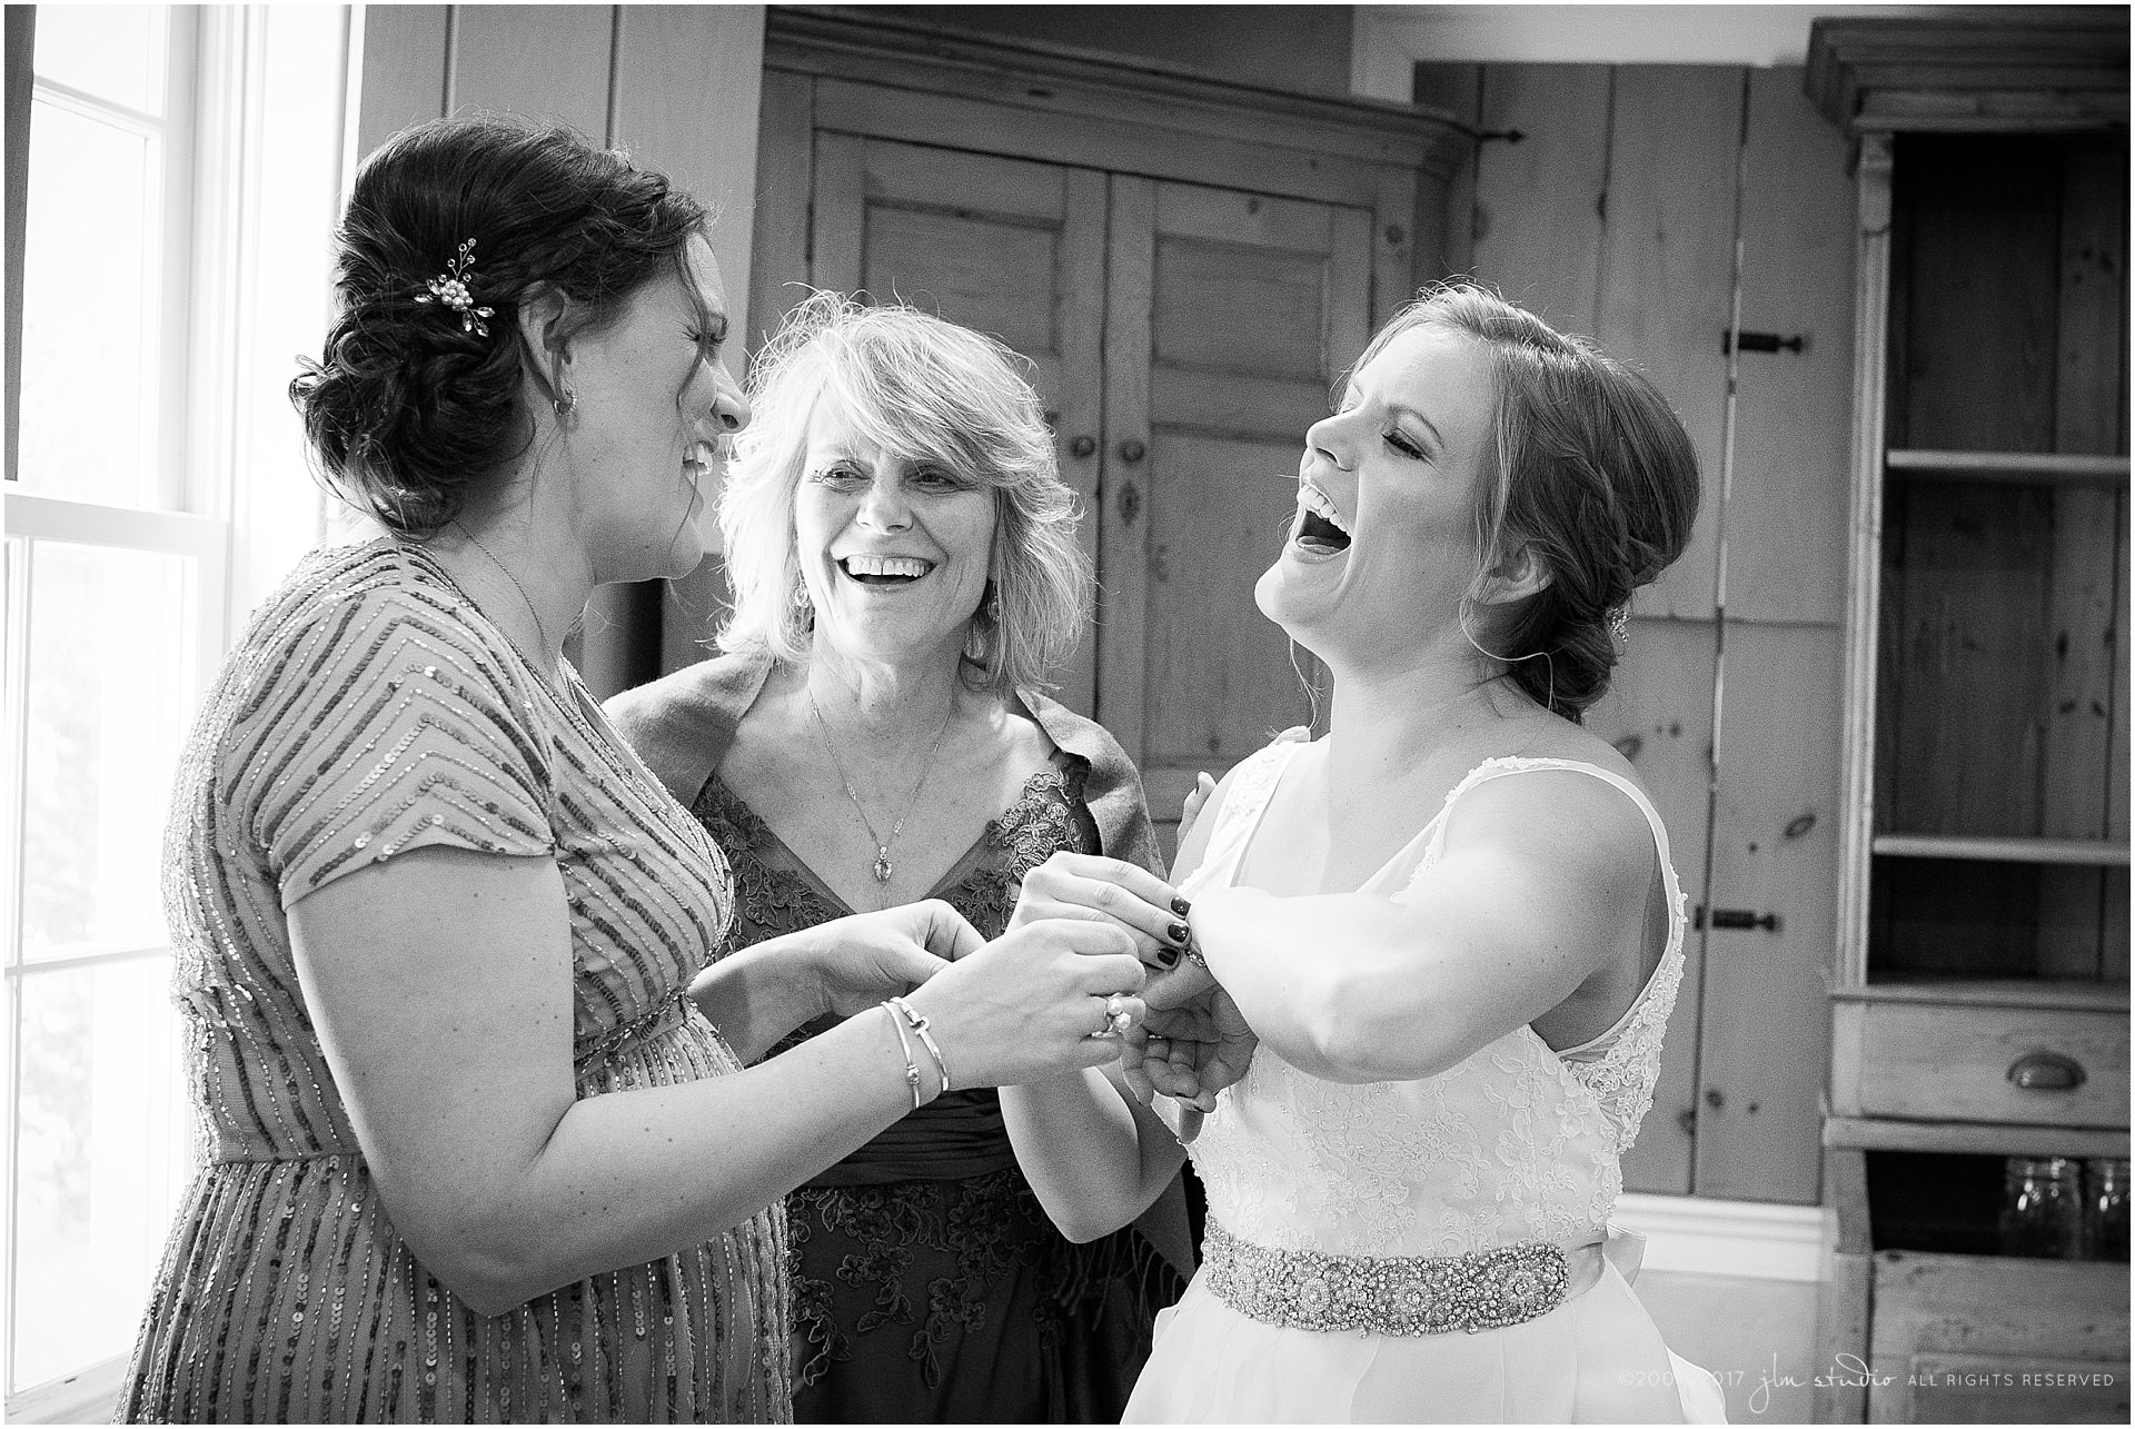
{"type": "MultiPolygon", "coordinates": [[[[1061,478],[1085,504],[1097,560],[1106,179],[1095,169],[818,132],[809,280],[905,301],[999,337],[1029,359],[1061,478]]],[[[1089,639],[1059,698],[1095,707],[1089,639]]]]}

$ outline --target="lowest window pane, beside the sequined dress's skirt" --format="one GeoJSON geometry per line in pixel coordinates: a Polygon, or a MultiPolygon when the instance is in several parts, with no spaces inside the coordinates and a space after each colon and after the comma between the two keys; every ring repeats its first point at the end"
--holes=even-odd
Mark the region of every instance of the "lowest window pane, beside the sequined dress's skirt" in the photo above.
{"type": "Polygon", "coordinates": [[[9,1393],[126,1354],[181,1188],[171,959],[28,974],[9,1393]]]}

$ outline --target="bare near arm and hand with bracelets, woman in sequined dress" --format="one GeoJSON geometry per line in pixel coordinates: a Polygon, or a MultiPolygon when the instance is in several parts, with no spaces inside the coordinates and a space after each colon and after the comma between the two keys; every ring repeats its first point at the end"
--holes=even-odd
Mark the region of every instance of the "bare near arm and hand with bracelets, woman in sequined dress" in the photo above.
{"type": "MultiPolygon", "coordinates": [[[[579,1100],[547,859],[414,850],[297,901],[290,938],[386,1213],[487,1314],[717,1237],[912,1109],[880,1010],[730,1077],[579,1100]]],[[[1110,1059],[1085,1034],[1104,993],[1142,983],[1125,948],[1100,925],[1029,927],[910,1002],[956,1085],[1044,1079],[1110,1059]]]]}

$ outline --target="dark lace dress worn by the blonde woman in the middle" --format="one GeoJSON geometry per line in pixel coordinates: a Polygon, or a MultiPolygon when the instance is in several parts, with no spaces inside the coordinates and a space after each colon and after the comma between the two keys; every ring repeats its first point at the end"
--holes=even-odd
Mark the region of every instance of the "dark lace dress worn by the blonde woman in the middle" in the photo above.
{"type": "MultiPolygon", "coordinates": [[[[931,897],[997,938],[1025,871],[1100,850],[1082,778],[1072,754],[1033,773],[931,897]]],[[[717,775],[694,814],[734,867],[734,946],[852,912],[717,775]]],[[[798,1423],[1114,1423],[1181,1292],[1134,1228],[1053,1228],[991,1089],[935,1098],[786,1205],[798,1423]]]]}

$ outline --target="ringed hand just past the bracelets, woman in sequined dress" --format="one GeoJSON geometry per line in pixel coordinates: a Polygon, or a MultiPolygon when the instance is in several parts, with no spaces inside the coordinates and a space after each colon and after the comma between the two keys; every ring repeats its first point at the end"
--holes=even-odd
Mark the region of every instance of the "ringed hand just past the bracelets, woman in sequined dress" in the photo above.
{"type": "Polygon", "coordinates": [[[1146,976],[1121,925],[1038,918],[956,959],[905,1002],[929,1021],[954,1087],[1006,1087],[1112,1062],[1119,1040],[1097,1034],[1114,1012],[1142,1015],[1136,993],[1146,976]]]}

